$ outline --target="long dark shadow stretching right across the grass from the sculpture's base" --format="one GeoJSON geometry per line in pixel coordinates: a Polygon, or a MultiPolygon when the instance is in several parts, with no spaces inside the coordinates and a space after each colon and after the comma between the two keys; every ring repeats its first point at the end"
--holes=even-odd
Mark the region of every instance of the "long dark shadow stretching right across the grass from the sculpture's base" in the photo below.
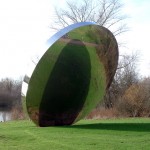
{"type": "MultiPolygon", "coordinates": [[[[68,128],[68,126],[66,126],[66,128],[68,128]]],[[[150,123],[94,123],[94,124],[72,125],[69,126],[69,128],[150,132],[150,123]]]]}

